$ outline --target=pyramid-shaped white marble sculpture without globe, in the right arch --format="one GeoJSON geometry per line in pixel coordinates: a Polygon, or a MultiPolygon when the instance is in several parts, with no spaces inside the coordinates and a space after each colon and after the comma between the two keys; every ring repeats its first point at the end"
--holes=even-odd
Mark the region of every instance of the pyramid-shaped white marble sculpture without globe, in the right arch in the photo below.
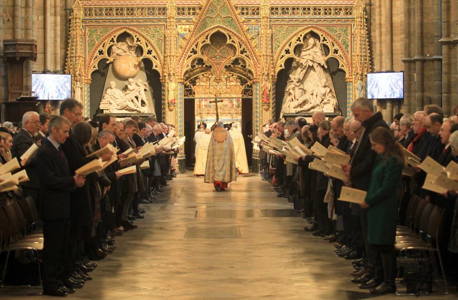
{"type": "Polygon", "coordinates": [[[317,110],[335,112],[337,98],[330,88],[332,82],[328,82],[331,81],[328,72],[320,42],[310,34],[305,35],[296,68],[289,75],[280,116],[317,110]]]}

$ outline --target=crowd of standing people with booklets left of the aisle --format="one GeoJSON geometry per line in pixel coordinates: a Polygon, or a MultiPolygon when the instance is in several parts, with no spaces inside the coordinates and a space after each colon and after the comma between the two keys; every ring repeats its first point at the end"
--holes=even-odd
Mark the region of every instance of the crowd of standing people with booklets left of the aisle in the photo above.
{"type": "MultiPolygon", "coordinates": [[[[174,126],[158,123],[155,116],[116,121],[104,114],[98,122],[83,120],[81,103],[66,99],[59,116],[29,111],[16,130],[11,127],[7,123],[0,128],[0,162],[17,158],[29,180],[16,191],[1,192],[0,209],[7,211],[18,203],[36,208],[43,237],[37,243],[44,244],[43,293],[65,297],[92,279],[89,272],[97,266],[95,261],[112,253],[116,237],[137,228],[134,220],[144,218],[141,204],[153,203],[176,177],[177,150],[163,148],[134,163],[123,162],[127,155],[122,153],[138,152],[144,144],[168,137],[174,126]],[[33,144],[39,146],[36,153],[20,160],[33,144]],[[94,159],[92,153],[108,144],[119,150],[119,160],[103,170],[76,174],[94,159]],[[145,161],[149,167],[140,168],[145,161]],[[134,172],[119,172],[130,166],[134,172]]],[[[112,155],[99,159],[106,162],[112,155]]]]}

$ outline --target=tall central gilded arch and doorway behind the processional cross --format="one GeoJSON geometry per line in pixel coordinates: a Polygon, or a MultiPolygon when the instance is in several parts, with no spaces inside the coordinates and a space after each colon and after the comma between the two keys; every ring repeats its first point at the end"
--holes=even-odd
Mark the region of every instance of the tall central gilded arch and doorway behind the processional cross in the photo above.
{"type": "MultiPolygon", "coordinates": [[[[225,124],[237,123],[246,140],[249,163],[254,74],[252,62],[240,55],[244,53],[242,47],[223,29],[213,30],[200,40],[195,54],[187,60],[190,68],[183,76],[184,131],[191,138],[201,123],[209,128],[217,119],[225,124]]],[[[195,157],[190,138],[185,145],[187,167],[192,166],[195,157]]]]}

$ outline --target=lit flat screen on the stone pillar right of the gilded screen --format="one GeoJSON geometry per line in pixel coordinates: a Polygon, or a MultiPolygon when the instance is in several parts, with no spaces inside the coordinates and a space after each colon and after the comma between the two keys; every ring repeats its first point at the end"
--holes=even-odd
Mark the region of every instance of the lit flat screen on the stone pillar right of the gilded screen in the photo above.
{"type": "Polygon", "coordinates": [[[367,73],[367,99],[404,98],[404,72],[367,73]]]}

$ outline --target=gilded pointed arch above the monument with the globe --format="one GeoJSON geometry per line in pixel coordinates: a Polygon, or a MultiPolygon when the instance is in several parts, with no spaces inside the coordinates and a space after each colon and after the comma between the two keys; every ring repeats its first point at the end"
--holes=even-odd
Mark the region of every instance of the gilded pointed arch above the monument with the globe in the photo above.
{"type": "MultiPolygon", "coordinates": [[[[141,28],[142,31],[145,30],[145,28],[141,28]]],[[[89,31],[91,29],[88,29],[89,31]]],[[[148,35],[153,35],[154,36],[154,28],[147,28],[147,30],[151,31],[146,34],[148,35]]],[[[87,39],[87,45],[90,45],[91,43],[94,43],[95,46],[92,48],[90,53],[87,55],[87,60],[86,60],[86,65],[85,65],[85,73],[87,77],[91,76],[91,73],[93,71],[98,70],[98,62],[101,59],[108,59],[108,61],[113,61],[112,58],[109,56],[109,49],[111,46],[116,44],[116,39],[119,35],[123,33],[127,33],[129,35],[132,35],[134,37],[134,42],[138,44],[138,46],[142,49],[142,55],[139,57],[139,59],[149,59],[153,63],[153,69],[158,71],[160,74],[162,74],[162,57],[159,55],[159,53],[162,53],[162,49],[158,49],[156,46],[156,43],[152,41],[147,35],[145,35],[140,29],[137,29],[135,27],[121,27],[121,28],[116,28],[103,36],[100,41],[96,42],[96,36],[88,34],[88,39],[87,39]]],[[[161,33],[157,33],[158,35],[161,33]]]]}

